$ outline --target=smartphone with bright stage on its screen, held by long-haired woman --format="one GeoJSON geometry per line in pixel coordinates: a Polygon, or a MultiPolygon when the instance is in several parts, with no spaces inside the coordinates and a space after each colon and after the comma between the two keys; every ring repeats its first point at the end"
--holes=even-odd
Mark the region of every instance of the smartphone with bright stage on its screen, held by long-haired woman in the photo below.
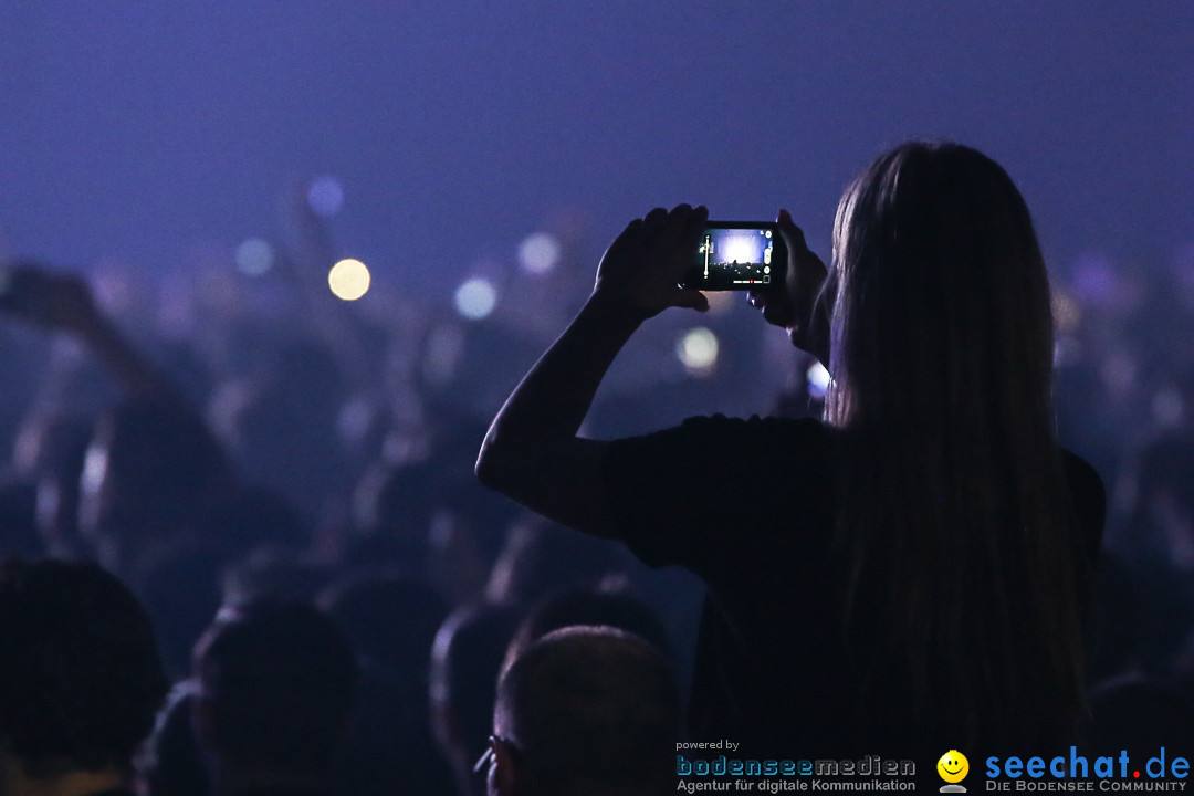
{"type": "Polygon", "coordinates": [[[696,290],[765,290],[780,285],[787,261],[775,222],[709,221],[679,284],[696,290]]]}

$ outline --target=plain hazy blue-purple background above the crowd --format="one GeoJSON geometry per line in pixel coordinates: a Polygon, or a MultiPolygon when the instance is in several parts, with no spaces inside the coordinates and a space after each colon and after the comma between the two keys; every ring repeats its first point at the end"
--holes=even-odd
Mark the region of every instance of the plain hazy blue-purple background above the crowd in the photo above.
{"type": "Polygon", "coordinates": [[[1003,162],[1051,264],[1163,263],[1192,130],[1184,0],[0,0],[0,242],[73,265],[278,235],[319,174],[343,253],[437,294],[564,209],[784,205],[824,252],[910,136],[1003,162]]]}

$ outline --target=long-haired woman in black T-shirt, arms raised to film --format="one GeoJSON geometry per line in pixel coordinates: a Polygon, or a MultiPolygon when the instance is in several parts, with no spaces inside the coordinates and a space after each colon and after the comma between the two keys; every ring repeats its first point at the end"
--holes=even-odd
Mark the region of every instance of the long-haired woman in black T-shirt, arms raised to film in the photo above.
{"type": "Polygon", "coordinates": [[[1048,279],[989,158],[906,143],[847,190],[832,267],[781,211],[783,285],[751,295],[829,365],[825,422],[720,415],[577,436],[707,212],[614,241],[589,302],[496,418],[481,480],[708,586],[691,730],[755,754],[1046,754],[1082,712],[1094,470],[1063,451],[1048,279]]]}

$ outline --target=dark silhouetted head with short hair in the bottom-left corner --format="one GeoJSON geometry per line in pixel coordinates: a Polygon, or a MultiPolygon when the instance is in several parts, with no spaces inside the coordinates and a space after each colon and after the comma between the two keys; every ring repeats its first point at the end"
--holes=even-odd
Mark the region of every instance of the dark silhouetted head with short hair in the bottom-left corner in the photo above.
{"type": "Polygon", "coordinates": [[[0,564],[0,747],[27,776],[128,770],[166,687],[149,617],[111,574],[0,564]]]}

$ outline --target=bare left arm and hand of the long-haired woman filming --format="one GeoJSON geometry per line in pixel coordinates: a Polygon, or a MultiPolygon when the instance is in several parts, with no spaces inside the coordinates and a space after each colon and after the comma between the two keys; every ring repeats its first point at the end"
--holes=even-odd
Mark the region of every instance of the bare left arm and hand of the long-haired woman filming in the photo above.
{"type": "Polygon", "coordinates": [[[708,211],[658,208],[610,245],[592,295],[498,412],[476,461],[485,486],[555,522],[613,538],[602,480],[605,443],[578,437],[614,358],[642,321],[669,307],[708,309],[677,283],[708,211]]]}

